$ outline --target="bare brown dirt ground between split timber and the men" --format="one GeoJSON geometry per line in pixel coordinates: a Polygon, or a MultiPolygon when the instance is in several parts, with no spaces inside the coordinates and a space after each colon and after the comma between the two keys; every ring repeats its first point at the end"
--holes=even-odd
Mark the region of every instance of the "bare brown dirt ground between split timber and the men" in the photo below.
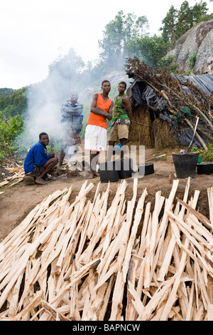
{"type": "MultiPolygon", "coordinates": [[[[146,197],[146,202],[151,201],[152,206],[155,203],[155,193],[158,190],[165,197],[168,197],[172,187],[173,180],[175,177],[175,166],[173,164],[172,153],[180,152],[180,149],[168,149],[160,150],[156,153],[154,149],[148,148],[145,150],[145,158],[154,164],[154,174],[145,175],[138,178],[138,197],[142,194],[143,190],[146,188],[148,191],[148,196],[146,197]],[[164,155],[161,158],[158,156],[164,155]]],[[[0,181],[6,177],[4,175],[4,168],[0,167],[0,181]],[[3,174],[2,174],[3,173],[3,174]]],[[[138,175],[137,172],[134,174],[135,177],[138,175]]],[[[63,190],[72,185],[72,196],[70,201],[75,198],[78,194],[80,187],[83,182],[87,180],[87,174],[78,177],[67,177],[66,175],[56,176],[53,180],[48,182],[48,185],[25,185],[23,181],[14,185],[13,187],[8,187],[7,185],[1,187],[0,195],[0,242],[13,230],[22,220],[28,215],[33,208],[42,202],[45,197],[52,194],[56,190],[63,190]]],[[[94,187],[89,193],[89,197],[93,197],[97,184],[100,182],[100,177],[95,177],[93,180],[88,180],[88,183],[92,182],[94,187]]],[[[119,180],[121,182],[121,180],[119,180]]],[[[110,184],[110,197],[109,202],[113,199],[119,182],[111,182],[110,184]]],[[[132,190],[133,190],[133,177],[127,178],[127,188],[126,188],[126,200],[131,200],[132,190]]],[[[187,179],[180,179],[178,185],[177,197],[182,199],[183,193],[185,191],[185,186],[187,179]]],[[[207,198],[207,187],[213,185],[212,175],[195,175],[194,178],[190,180],[190,195],[193,195],[195,190],[200,190],[200,197],[197,203],[197,210],[199,210],[203,215],[209,218],[209,204],[207,198]]],[[[101,183],[101,191],[106,190],[107,183],[101,183]]]]}

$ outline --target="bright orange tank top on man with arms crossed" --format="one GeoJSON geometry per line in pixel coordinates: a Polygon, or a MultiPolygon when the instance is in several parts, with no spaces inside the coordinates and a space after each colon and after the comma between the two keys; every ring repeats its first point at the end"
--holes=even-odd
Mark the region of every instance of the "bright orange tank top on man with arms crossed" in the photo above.
{"type": "MultiPolygon", "coordinates": [[[[108,113],[109,107],[111,105],[111,99],[109,98],[108,100],[104,100],[102,98],[102,94],[98,93],[96,105],[108,113]]],[[[107,129],[107,119],[103,115],[97,115],[90,112],[87,125],[98,125],[99,127],[107,129]]]]}

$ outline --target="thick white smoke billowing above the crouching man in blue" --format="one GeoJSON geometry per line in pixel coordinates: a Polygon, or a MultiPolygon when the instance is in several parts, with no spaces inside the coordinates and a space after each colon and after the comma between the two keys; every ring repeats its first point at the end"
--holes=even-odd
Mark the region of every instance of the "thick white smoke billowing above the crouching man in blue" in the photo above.
{"type": "Polygon", "coordinates": [[[48,133],[53,141],[62,138],[60,110],[62,103],[70,99],[71,91],[77,91],[79,103],[84,104],[80,100],[85,88],[82,85],[84,64],[75,51],[70,49],[67,55],[50,64],[49,69],[48,78],[28,87],[28,111],[24,123],[31,142],[29,145],[35,144],[42,132],[48,133]]]}

